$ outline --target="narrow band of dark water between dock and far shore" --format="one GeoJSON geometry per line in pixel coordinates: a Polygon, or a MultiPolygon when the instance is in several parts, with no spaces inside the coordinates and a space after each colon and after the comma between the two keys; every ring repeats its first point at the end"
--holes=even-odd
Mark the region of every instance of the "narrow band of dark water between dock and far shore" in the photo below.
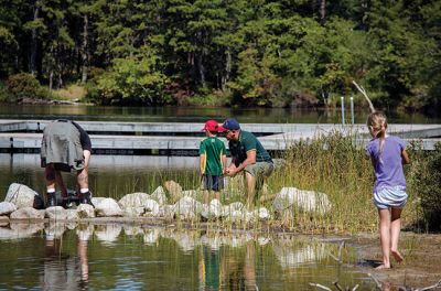
{"type": "MultiPolygon", "coordinates": [[[[345,120],[351,122],[346,107],[345,120]]],[[[365,123],[368,107],[355,111],[355,122],[365,123]]],[[[441,115],[387,112],[394,123],[441,123],[441,115]]],[[[2,105],[0,119],[109,120],[130,122],[205,122],[235,117],[244,123],[340,123],[341,109],[299,108],[195,108],[195,107],[110,107],[87,105],[2,105]]]]}

